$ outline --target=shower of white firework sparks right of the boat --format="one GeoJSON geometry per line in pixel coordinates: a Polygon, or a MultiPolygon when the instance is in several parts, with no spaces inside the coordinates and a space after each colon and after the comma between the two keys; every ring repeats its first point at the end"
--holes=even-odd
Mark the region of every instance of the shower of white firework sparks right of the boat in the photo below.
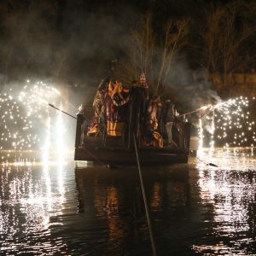
{"type": "Polygon", "coordinates": [[[202,110],[210,111],[202,122],[210,134],[210,146],[214,145],[215,138],[218,145],[224,148],[254,147],[255,122],[250,116],[249,108],[250,102],[247,97],[243,96],[202,107],[202,110]]]}

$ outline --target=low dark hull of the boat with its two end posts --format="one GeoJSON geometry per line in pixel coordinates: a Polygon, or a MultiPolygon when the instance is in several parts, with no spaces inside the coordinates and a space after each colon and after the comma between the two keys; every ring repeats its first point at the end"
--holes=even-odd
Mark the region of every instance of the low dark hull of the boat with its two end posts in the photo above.
{"type": "MultiPolygon", "coordinates": [[[[74,160],[93,161],[103,165],[137,165],[137,154],[128,129],[122,137],[88,137],[83,131],[84,118],[77,115],[77,131],[74,160]]],[[[138,146],[138,160],[142,164],[187,163],[189,155],[190,123],[183,125],[182,137],[172,148],[164,142],[163,148],[138,146]]]]}

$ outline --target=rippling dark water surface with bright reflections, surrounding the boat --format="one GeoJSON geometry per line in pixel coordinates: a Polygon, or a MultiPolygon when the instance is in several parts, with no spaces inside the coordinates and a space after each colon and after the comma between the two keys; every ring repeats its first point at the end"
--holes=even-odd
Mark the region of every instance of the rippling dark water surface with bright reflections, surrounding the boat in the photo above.
{"type": "MultiPolygon", "coordinates": [[[[136,167],[12,154],[1,152],[1,255],[152,255],[136,167]]],[[[255,151],[142,170],[158,255],[256,255],[255,151]]]]}

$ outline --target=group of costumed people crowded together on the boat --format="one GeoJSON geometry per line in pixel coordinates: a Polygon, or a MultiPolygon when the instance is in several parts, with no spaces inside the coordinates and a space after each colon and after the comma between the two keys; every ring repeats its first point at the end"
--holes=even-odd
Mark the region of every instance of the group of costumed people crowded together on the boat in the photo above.
{"type": "Polygon", "coordinates": [[[124,137],[132,129],[141,147],[163,148],[165,141],[165,147],[184,148],[184,122],[177,118],[175,105],[168,98],[160,102],[158,96],[151,95],[144,74],[130,86],[102,79],[93,108],[87,136],[124,137]]]}

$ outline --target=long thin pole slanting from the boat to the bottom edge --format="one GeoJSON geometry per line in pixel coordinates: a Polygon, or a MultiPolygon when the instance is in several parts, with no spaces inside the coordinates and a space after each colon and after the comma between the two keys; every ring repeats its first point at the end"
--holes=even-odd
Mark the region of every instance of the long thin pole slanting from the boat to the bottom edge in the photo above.
{"type": "Polygon", "coordinates": [[[139,157],[138,157],[138,153],[137,153],[137,142],[136,142],[134,132],[133,132],[133,140],[134,140],[134,147],[135,147],[135,152],[136,152],[136,157],[137,157],[137,167],[138,167],[138,171],[139,171],[141,187],[143,190],[143,201],[144,201],[145,210],[146,210],[146,217],[147,217],[147,222],[148,222],[148,230],[149,230],[149,236],[150,236],[150,241],[151,241],[151,247],[152,247],[153,255],[156,256],[156,250],[155,250],[155,246],[154,246],[154,236],[153,236],[153,231],[152,231],[151,221],[150,221],[150,216],[149,216],[149,211],[148,211],[148,202],[147,202],[146,192],[145,192],[145,188],[144,188],[143,174],[142,174],[141,165],[140,165],[140,161],[139,161],[139,157]]]}

